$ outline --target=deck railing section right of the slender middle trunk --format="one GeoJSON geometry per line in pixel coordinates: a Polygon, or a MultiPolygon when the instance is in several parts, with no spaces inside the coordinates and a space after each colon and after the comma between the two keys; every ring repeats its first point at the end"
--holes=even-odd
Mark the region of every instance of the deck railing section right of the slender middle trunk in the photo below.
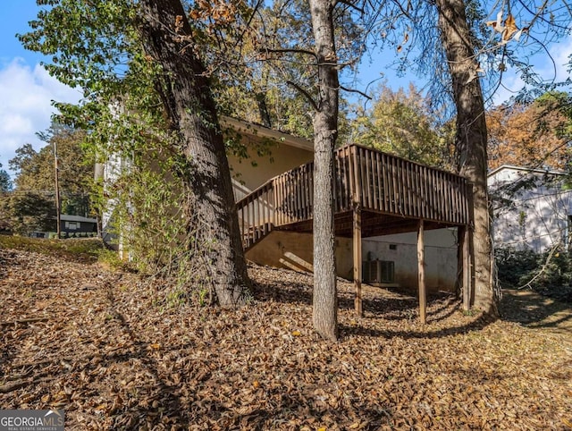
{"type": "Polygon", "coordinates": [[[448,224],[470,221],[467,179],[357,145],[336,156],[336,210],[362,209],[448,224]]]}

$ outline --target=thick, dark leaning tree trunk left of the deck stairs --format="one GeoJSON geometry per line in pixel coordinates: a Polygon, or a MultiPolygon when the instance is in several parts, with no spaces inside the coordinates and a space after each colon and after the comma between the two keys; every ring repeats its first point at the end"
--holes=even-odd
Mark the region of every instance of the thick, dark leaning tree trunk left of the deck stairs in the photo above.
{"type": "Polygon", "coordinates": [[[223,307],[245,303],[247,266],[240,241],[231,173],[214,100],[189,40],[191,30],[179,0],[142,0],[141,33],[147,53],[163,68],[162,97],[179,136],[188,199],[189,233],[198,244],[198,280],[214,288],[223,307]]]}

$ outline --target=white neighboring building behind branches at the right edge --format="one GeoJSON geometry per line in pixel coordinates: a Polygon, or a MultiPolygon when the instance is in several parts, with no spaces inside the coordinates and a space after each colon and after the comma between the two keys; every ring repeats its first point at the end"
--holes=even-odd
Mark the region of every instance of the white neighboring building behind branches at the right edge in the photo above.
{"type": "Polygon", "coordinates": [[[566,174],[502,165],[488,175],[495,247],[536,253],[568,247],[572,190],[566,174]]]}

